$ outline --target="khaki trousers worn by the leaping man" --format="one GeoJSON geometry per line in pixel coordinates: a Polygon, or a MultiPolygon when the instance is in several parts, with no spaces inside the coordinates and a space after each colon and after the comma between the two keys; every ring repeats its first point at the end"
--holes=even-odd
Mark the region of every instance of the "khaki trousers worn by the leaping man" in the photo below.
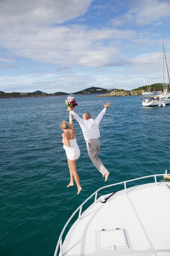
{"type": "Polygon", "coordinates": [[[99,170],[99,172],[102,175],[105,175],[109,173],[109,171],[106,169],[104,164],[102,164],[102,161],[98,157],[98,152],[100,150],[100,140],[99,139],[91,139],[86,140],[88,155],[94,164],[94,166],[99,170]]]}

